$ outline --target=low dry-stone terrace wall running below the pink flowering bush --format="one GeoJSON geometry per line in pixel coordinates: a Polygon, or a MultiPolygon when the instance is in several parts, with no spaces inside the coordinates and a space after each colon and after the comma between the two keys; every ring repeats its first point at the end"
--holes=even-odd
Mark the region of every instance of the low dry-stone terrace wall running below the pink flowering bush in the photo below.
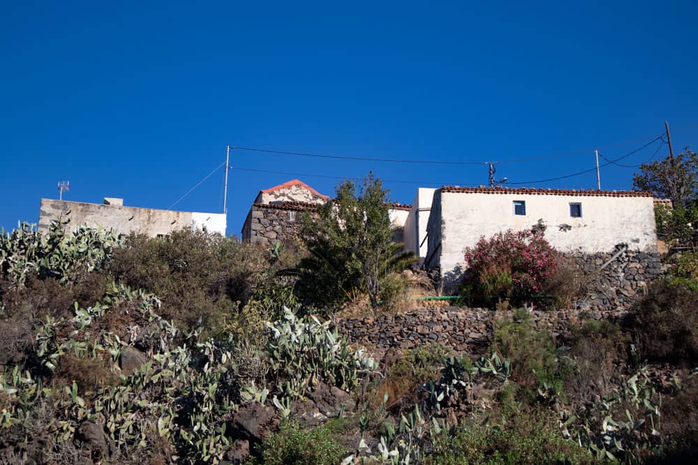
{"type": "MultiPolygon", "coordinates": [[[[577,310],[530,312],[533,326],[549,330],[554,336],[565,333],[570,323],[579,319],[579,314],[577,310]]],[[[589,317],[597,320],[621,319],[625,314],[600,310],[588,312],[589,317]]],[[[459,352],[480,355],[489,346],[493,324],[512,317],[512,312],[482,308],[426,308],[376,318],[342,319],[337,327],[352,342],[378,351],[442,344],[459,352]]]]}

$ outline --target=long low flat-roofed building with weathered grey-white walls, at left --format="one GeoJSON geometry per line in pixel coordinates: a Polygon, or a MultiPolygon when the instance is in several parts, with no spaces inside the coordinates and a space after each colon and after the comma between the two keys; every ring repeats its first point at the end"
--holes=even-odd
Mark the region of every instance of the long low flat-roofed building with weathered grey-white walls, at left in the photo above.
{"type": "Polygon", "coordinates": [[[178,229],[205,229],[225,236],[225,214],[156,210],[124,206],[123,199],[105,197],[104,204],[41,199],[39,231],[47,231],[53,220],[70,220],[71,227],[113,228],[123,234],[165,236],[178,229]]]}

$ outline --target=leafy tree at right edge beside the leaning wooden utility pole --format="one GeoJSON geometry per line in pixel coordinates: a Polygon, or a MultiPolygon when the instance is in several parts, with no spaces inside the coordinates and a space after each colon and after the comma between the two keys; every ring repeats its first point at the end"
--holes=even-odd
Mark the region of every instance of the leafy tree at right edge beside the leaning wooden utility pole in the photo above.
{"type": "Polygon", "coordinates": [[[639,190],[653,192],[671,200],[674,208],[692,202],[698,192],[698,157],[688,147],[678,155],[640,165],[640,173],[632,178],[639,190]]]}

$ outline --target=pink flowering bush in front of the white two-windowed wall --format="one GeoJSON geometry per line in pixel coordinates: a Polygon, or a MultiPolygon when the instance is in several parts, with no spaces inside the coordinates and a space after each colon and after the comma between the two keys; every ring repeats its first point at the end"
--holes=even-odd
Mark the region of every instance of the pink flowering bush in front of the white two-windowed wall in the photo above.
{"type": "Polygon", "coordinates": [[[547,288],[560,254],[534,231],[499,232],[480,238],[465,252],[468,271],[463,290],[474,303],[493,306],[503,300],[522,305],[547,288]]]}

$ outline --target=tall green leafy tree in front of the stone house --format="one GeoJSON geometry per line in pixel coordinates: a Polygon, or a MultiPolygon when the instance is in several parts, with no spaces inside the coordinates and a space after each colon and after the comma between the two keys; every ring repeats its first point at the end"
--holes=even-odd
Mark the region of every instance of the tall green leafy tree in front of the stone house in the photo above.
{"type": "Polygon", "coordinates": [[[310,256],[288,270],[299,277],[299,294],[336,305],[365,292],[378,303],[385,277],[414,261],[392,242],[388,204],[388,191],[369,173],[360,187],[338,185],[333,201],[304,217],[301,236],[310,256]]]}

